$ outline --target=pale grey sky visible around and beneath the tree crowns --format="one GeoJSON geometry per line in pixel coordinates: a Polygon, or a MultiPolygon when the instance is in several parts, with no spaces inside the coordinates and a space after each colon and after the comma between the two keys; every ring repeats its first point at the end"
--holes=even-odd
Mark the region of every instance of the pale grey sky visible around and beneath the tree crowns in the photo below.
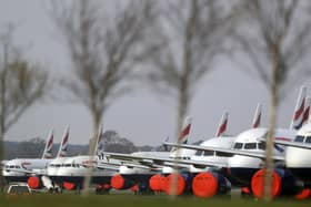
{"type": "MultiPolygon", "coordinates": [[[[41,0],[0,0],[0,30],[17,24],[14,40],[23,45],[24,55],[48,65],[53,76],[70,66],[61,35],[47,14],[41,0]]],[[[0,54],[1,55],[1,54],[0,54]]],[[[311,86],[311,82],[307,82],[311,86]]],[[[278,116],[280,127],[289,127],[299,87],[289,92],[278,116]]],[[[265,86],[228,60],[221,60],[197,86],[189,115],[193,117],[190,142],[214,135],[223,111],[229,112],[228,131],[237,135],[251,126],[258,103],[263,104],[262,125],[268,123],[269,94],[265,86]]],[[[174,141],[175,102],[141,87],[117,100],[104,115],[104,130],[114,130],[137,145],[160,145],[168,136],[174,141]]],[[[53,128],[60,142],[66,126],[70,126],[70,143],[87,144],[92,133],[91,116],[80,103],[63,103],[57,99],[39,102],[29,108],[9,130],[7,141],[46,138],[53,128]]]]}

